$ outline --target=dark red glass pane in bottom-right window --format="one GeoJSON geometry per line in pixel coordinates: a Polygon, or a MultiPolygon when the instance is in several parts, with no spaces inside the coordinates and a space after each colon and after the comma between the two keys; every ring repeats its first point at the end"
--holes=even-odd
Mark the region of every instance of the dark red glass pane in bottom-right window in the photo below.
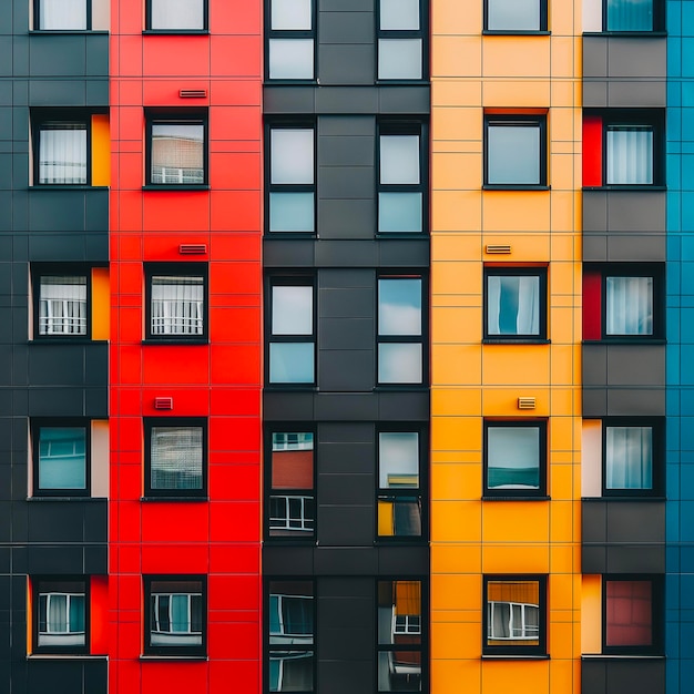
{"type": "Polygon", "coordinates": [[[653,646],[652,581],[605,581],[605,646],[653,646]]]}

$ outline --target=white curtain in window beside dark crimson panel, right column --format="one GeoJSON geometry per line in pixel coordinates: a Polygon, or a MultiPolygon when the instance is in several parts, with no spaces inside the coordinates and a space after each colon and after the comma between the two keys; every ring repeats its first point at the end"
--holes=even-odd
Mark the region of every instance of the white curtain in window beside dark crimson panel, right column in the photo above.
{"type": "Polygon", "coordinates": [[[653,277],[606,278],[606,334],[653,335],[653,277]]]}

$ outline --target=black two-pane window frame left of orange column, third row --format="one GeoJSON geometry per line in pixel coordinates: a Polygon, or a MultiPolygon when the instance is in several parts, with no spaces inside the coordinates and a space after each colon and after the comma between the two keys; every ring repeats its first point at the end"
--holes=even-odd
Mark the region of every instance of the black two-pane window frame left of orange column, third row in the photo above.
{"type": "Polygon", "coordinates": [[[425,388],[429,382],[429,277],[422,268],[401,272],[378,273],[376,276],[376,384],[381,389],[412,389],[425,388]],[[380,282],[398,279],[418,279],[421,290],[421,331],[419,335],[381,335],[380,322],[380,282]],[[421,379],[419,381],[388,381],[380,379],[380,347],[381,345],[420,345],[421,346],[421,379]]]}

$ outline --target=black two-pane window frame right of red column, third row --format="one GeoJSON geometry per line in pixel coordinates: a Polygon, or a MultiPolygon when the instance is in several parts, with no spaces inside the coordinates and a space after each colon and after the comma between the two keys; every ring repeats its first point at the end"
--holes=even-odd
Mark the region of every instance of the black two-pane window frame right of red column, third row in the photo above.
{"type": "Polygon", "coordinates": [[[316,305],[317,298],[317,283],[314,274],[306,275],[269,275],[265,280],[265,384],[267,388],[273,389],[292,389],[292,390],[306,390],[316,387],[318,380],[318,350],[317,350],[317,336],[318,336],[318,312],[316,305]],[[313,320],[310,335],[274,335],[273,334],[273,293],[275,287],[310,287],[312,288],[312,309],[313,320]],[[314,377],[310,381],[272,381],[271,380],[271,347],[273,344],[280,343],[310,343],[314,351],[314,377]]]}

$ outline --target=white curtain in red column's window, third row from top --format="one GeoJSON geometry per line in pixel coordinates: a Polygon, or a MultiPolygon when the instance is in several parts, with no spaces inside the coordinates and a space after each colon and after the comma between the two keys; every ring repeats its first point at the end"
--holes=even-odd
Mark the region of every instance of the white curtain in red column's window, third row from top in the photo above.
{"type": "Polygon", "coordinates": [[[202,277],[152,278],[152,335],[203,334],[202,277]]]}

